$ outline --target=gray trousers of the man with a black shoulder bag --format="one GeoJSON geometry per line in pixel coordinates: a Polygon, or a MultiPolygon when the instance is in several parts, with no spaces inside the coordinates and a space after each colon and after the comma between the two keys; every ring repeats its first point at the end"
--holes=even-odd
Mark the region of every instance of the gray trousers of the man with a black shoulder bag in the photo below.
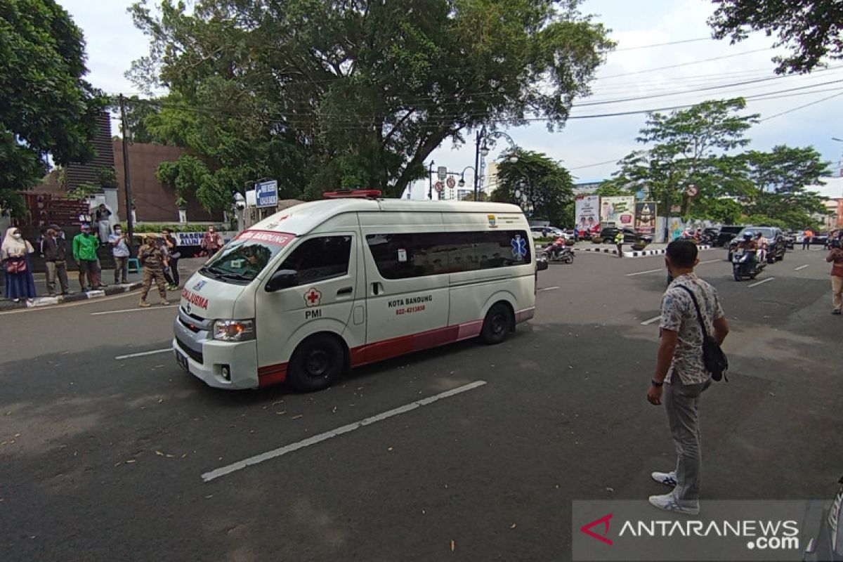
{"type": "Polygon", "coordinates": [[[664,409],[676,447],[676,500],[699,500],[702,469],[700,395],[709,383],[682,384],[679,373],[664,385],[664,409]]]}

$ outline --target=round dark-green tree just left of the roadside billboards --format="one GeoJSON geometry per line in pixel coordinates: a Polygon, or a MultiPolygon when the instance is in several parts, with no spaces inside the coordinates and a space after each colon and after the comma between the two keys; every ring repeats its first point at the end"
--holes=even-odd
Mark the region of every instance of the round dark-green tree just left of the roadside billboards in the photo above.
{"type": "Polygon", "coordinates": [[[521,206],[529,217],[559,222],[573,199],[571,174],[544,153],[518,150],[517,162],[505,159],[497,169],[492,201],[521,206]]]}

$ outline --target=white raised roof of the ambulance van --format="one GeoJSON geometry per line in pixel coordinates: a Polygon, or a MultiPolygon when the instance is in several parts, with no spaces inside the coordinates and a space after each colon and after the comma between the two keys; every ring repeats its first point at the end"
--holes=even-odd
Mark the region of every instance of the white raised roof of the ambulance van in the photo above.
{"type": "Polygon", "coordinates": [[[346,212],[476,212],[486,214],[522,214],[509,203],[475,201],[408,201],[405,199],[331,199],[311,201],[278,211],[255,223],[250,230],[306,234],[323,222],[346,212]]]}

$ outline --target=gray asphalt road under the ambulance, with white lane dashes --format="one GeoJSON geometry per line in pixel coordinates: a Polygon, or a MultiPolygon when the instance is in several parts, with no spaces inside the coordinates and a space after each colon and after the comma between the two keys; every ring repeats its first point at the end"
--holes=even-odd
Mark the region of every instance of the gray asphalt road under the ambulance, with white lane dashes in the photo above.
{"type": "MultiPolygon", "coordinates": [[[[731,383],[702,406],[703,509],[830,498],[843,474],[843,319],[830,315],[824,252],[788,253],[759,285],[732,281],[722,254],[702,253],[698,269],[732,326],[731,383]]],[[[577,254],[540,274],[536,318],[507,343],[363,367],[314,394],[217,391],[169,353],[118,358],[169,346],[175,307],[140,310],[137,295],[2,313],[0,553],[570,559],[572,500],[663,493],[649,474],[674,463],[663,409],[645,399],[658,323],[642,323],[664,277],[661,257],[577,254]]]]}

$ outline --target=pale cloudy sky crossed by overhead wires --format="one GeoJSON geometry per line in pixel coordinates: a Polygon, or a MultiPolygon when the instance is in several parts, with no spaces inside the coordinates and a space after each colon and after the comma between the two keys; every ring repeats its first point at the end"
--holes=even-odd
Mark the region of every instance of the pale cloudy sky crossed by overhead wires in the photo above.
{"type": "MultiPolygon", "coordinates": [[[[126,12],[129,0],[58,0],[83,29],[87,41],[88,79],[110,94],[137,93],[137,86],[124,77],[133,60],[147,54],[148,40],[132,24],[126,12]]],[[[706,99],[770,94],[776,99],[748,100],[747,111],[759,113],[760,122],[750,129],[749,148],[770,150],[780,144],[813,146],[840,174],[843,142],[843,61],[810,75],[775,78],[775,37],[754,34],[748,40],[729,45],[728,40],[711,40],[706,19],[714,6],[708,0],[585,0],[583,13],[610,29],[617,42],[592,83],[593,94],[577,99],[572,119],[554,132],[544,123],[504,129],[518,147],[547,153],[561,161],[577,182],[608,179],[616,162],[644,146],[636,142],[646,115],[592,118],[589,115],[656,110],[674,105],[695,104],[706,99]],[[685,41],[674,43],[676,41],[685,41]],[[673,45],[661,45],[674,43],[673,45]],[[650,46],[660,45],[660,46],[650,46]],[[681,65],[681,66],[677,66],[681,65]],[[671,68],[665,68],[671,67],[671,68]],[[840,67],[840,68],[837,68],[840,67]],[[654,70],[658,69],[658,70],[654,70]],[[623,75],[623,76],[619,76],[623,75]],[[760,83],[718,88],[724,84],[775,78],[760,83]],[[807,87],[807,88],[806,88],[807,87]],[[687,90],[711,88],[702,92],[687,90]],[[793,91],[793,88],[803,88],[793,91]],[[783,90],[792,90],[784,92],[783,90]],[[668,94],[668,95],[664,95],[668,94]],[[618,101],[642,96],[651,99],[618,101]],[[606,103],[610,102],[610,103],[606,103]],[[596,105],[595,105],[596,103],[596,105]],[[593,105],[584,105],[593,104],[593,105]],[[799,109],[800,106],[808,105],[799,109]],[[780,115],[782,114],[782,115],[780,115]]],[[[453,146],[446,141],[431,155],[436,166],[459,173],[474,165],[474,135],[464,134],[466,143],[453,146]]],[[[497,158],[507,142],[497,142],[488,159],[497,158]]],[[[468,181],[469,171],[466,175],[468,181]]],[[[470,183],[470,181],[468,182],[470,183]]],[[[427,181],[417,191],[426,191],[427,181]]],[[[843,193],[829,195],[843,196],[843,193]]]]}

